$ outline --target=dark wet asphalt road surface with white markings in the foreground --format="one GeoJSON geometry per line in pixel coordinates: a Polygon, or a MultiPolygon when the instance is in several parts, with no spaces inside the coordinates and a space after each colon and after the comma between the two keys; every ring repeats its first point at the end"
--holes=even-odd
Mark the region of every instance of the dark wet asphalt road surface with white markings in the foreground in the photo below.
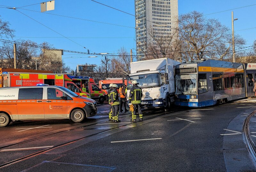
{"type": "MultiPolygon", "coordinates": [[[[108,104],[102,106],[105,108],[108,104]]],[[[102,107],[102,111],[104,108],[102,107]]],[[[255,171],[255,165],[246,149],[242,134],[220,135],[233,133],[223,129],[242,132],[245,119],[242,116],[255,109],[252,103],[246,101],[206,108],[180,108],[183,111],[157,118],[153,117],[157,116],[158,112],[151,113],[150,116],[145,116],[143,122],[133,124],[129,124],[129,113],[121,114],[121,123],[113,124],[102,119],[107,117],[103,112],[101,116],[87,121],[92,124],[101,122],[98,125],[90,125],[10,147],[11,149],[56,146],[85,137],[0,168],[0,171],[255,171]]],[[[255,121],[256,117],[252,119],[251,125],[254,125],[255,121]]],[[[31,139],[85,124],[74,124],[68,120],[58,120],[56,123],[29,121],[23,125],[6,127],[4,130],[1,128],[2,135],[14,133],[11,137],[4,136],[1,145],[6,141],[8,143],[8,138],[14,143],[15,138],[31,139]],[[14,132],[17,127],[28,128],[31,125],[48,125],[47,123],[53,127],[46,128],[45,131],[28,130],[23,134],[14,132]]],[[[253,132],[255,127],[250,130],[253,132]]],[[[3,164],[40,150],[6,152],[0,150],[0,161],[3,164]]]]}

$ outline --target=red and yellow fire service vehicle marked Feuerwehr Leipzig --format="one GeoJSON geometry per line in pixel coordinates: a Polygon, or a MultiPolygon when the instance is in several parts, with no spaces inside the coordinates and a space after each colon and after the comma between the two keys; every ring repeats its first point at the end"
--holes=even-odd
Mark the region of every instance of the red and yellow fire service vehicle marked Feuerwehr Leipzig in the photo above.
{"type": "Polygon", "coordinates": [[[3,87],[23,87],[48,84],[65,87],[79,96],[91,98],[90,94],[83,92],[77,87],[67,74],[2,72],[1,76],[3,77],[3,87]]]}

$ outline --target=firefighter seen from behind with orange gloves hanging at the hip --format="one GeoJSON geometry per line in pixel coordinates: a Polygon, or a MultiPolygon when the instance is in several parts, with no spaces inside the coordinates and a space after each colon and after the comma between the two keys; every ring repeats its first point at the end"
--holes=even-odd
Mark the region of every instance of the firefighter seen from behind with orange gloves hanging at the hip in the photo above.
{"type": "Polygon", "coordinates": [[[131,101],[132,105],[134,106],[134,111],[132,111],[132,119],[131,121],[136,121],[136,111],[139,113],[140,121],[143,119],[143,114],[141,111],[141,97],[142,97],[142,90],[138,86],[138,81],[132,81],[133,87],[130,90],[129,101],[131,101]]]}

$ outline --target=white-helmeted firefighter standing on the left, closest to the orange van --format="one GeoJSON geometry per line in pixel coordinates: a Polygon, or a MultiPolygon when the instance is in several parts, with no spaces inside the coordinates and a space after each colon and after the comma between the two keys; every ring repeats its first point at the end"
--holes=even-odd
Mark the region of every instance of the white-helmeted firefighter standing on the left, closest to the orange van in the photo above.
{"type": "Polygon", "coordinates": [[[115,120],[113,122],[121,122],[118,120],[118,114],[119,114],[119,98],[118,98],[118,92],[117,92],[117,85],[112,85],[112,90],[110,91],[109,98],[110,98],[110,104],[112,105],[112,117],[114,117],[115,120]]]}

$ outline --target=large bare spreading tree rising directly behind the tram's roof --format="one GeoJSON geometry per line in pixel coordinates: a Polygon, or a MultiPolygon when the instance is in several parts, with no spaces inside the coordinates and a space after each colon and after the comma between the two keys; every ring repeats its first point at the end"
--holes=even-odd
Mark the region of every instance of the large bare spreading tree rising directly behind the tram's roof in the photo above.
{"type": "MultiPolygon", "coordinates": [[[[207,19],[203,13],[192,11],[179,17],[181,53],[184,60],[201,58],[222,59],[231,51],[231,32],[217,19],[207,19]]],[[[236,46],[245,41],[236,35],[236,46]]]]}

